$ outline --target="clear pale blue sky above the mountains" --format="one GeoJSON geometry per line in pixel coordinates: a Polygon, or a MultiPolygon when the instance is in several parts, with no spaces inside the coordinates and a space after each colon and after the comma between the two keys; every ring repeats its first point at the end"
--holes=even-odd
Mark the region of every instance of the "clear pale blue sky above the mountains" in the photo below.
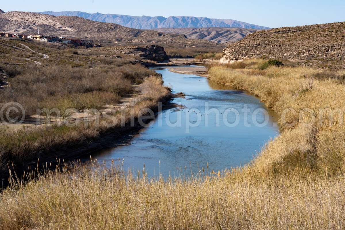
{"type": "Polygon", "coordinates": [[[12,0],[7,11],[85,11],[133,16],[196,16],[234,19],[267,27],[345,21],[345,0],[12,0]]]}

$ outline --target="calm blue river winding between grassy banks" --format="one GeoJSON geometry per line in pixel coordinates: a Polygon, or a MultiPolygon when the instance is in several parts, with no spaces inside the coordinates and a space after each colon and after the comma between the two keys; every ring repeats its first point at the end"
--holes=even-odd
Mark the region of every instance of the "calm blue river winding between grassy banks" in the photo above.
{"type": "MultiPolygon", "coordinates": [[[[179,67],[185,68],[185,67],[179,67]]],[[[125,145],[95,154],[98,162],[123,161],[123,169],[144,169],[149,177],[222,171],[244,165],[277,136],[277,116],[258,98],[211,82],[208,78],[155,68],[183,105],[158,112],[147,128],[125,145]],[[266,112],[267,111],[267,112],[266,112]]]]}

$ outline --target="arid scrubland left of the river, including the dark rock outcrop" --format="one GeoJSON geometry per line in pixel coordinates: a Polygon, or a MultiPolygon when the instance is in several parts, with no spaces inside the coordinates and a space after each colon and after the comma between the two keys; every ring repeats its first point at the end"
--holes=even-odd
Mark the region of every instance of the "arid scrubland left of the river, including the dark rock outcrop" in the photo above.
{"type": "MultiPolygon", "coordinates": [[[[107,139],[98,140],[100,136],[111,139],[138,128],[127,129],[120,123],[111,128],[97,125],[98,116],[103,119],[103,114],[117,114],[119,117],[122,109],[136,108],[139,104],[156,108],[158,101],[170,98],[161,76],[140,64],[151,61],[148,59],[154,62],[167,58],[159,46],[117,47],[113,53],[105,50],[107,55],[100,55],[100,50],[92,48],[75,49],[57,43],[1,37],[0,51],[0,107],[11,102],[22,106],[8,114],[1,110],[1,185],[8,182],[10,162],[12,170],[20,172],[38,157],[67,157],[66,151],[60,151],[63,146],[82,145],[84,150],[99,147],[107,139]],[[98,111],[90,112],[91,107],[98,111]],[[60,115],[54,113],[50,122],[46,112],[37,111],[44,108],[57,108],[60,115]],[[73,111],[69,112],[69,108],[73,111]],[[23,123],[11,123],[12,117],[23,118],[23,123]],[[66,121],[87,125],[73,128],[66,121]],[[89,147],[85,149],[85,146],[89,147]],[[22,154],[26,157],[20,157],[22,154]]],[[[145,114],[139,110],[138,114],[145,114]]],[[[129,114],[125,117],[129,119],[129,114]]]]}

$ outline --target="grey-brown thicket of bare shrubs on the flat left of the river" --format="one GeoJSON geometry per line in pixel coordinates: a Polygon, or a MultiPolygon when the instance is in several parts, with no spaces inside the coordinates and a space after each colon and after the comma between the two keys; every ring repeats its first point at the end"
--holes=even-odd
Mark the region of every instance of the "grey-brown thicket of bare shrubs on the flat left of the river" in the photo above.
{"type": "MultiPolygon", "coordinates": [[[[114,64],[92,69],[31,66],[15,78],[9,79],[11,87],[1,90],[0,103],[18,102],[25,108],[26,116],[36,114],[38,108],[82,110],[90,106],[85,107],[78,95],[96,98],[97,101],[97,97],[105,95],[101,94],[104,92],[109,93],[107,96],[114,95],[111,97],[112,101],[117,102],[118,97],[132,91],[131,84],[143,82],[152,73],[140,64],[129,64],[126,67],[114,64]],[[86,94],[89,92],[90,94],[86,94]]],[[[99,100],[99,105],[91,107],[99,108],[104,103],[107,102],[99,100]]]]}

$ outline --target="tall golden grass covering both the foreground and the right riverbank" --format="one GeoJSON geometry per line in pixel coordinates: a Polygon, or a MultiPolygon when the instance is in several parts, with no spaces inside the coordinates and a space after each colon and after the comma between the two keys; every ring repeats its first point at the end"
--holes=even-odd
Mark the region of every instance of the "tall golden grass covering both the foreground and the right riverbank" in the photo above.
{"type": "MultiPolygon", "coordinates": [[[[344,71],[213,66],[210,79],[286,108],[344,108],[344,71]]],[[[151,83],[150,83],[151,84],[151,83]]],[[[285,117],[285,115],[284,115],[285,117]]],[[[191,178],[148,179],[76,166],[0,195],[0,229],[344,229],[344,126],[294,114],[247,166],[191,178]],[[297,119],[297,122],[295,120],[297,119]]]]}

